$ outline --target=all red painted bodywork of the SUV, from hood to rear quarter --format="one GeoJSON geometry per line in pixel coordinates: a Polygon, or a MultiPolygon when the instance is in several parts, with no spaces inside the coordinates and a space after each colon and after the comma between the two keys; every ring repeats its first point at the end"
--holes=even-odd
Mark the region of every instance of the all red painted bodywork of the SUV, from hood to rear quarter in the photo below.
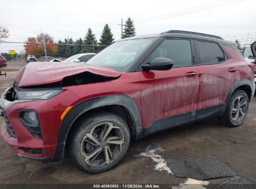
{"type": "Polygon", "coordinates": [[[230,86],[240,78],[254,80],[254,65],[247,63],[238,52],[225,47],[230,60],[212,65],[173,68],[167,71],[119,73],[110,68],[92,67],[83,63],[29,63],[14,77],[19,86],[41,85],[60,81],[65,76],[90,71],[120,78],[101,83],[67,86],[64,92],[48,100],[24,101],[6,109],[7,117],[17,138],[10,137],[6,126],[2,136],[20,154],[52,157],[60,127],[60,116],[68,106],[89,98],[107,94],[125,94],[135,101],[143,127],[156,119],[186,113],[224,103],[230,86]],[[52,68],[54,67],[54,68],[52,68]],[[237,71],[229,72],[229,68],[237,71]],[[21,109],[35,109],[39,115],[42,140],[36,139],[19,120],[21,109]],[[17,147],[43,149],[43,154],[26,154],[17,147]]]}

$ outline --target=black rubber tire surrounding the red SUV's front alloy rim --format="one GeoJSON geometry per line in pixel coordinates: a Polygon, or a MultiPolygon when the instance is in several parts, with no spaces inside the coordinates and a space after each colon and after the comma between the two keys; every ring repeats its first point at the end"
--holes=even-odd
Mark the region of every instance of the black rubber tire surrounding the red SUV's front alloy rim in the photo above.
{"type": "Polygon", "coordinates": [[[69,144],[70,160],[77,166],[77,168],[87,173],[100,173],[115,167],[121,161],[121,159],[123,159],[130,145],[130,131],[126,122],[123,121],[120,116],[111,113],[99,113],[94,116],[91,115],[90,118],[80,121],[77,124],[78,128],[75,132],[73,132],[72,140],[69,144]],[[82,159],[82,155],[80,154],[80,144],[85,134],[87,134],[92,127],[102,122],[113,122],[115,126],[120,127],[121,131],[123,131],[125,142],[120,155],[113,162],[111,162],[111,164],[103,165],[102,167],[92,167],[86,164],[82,159]]]}

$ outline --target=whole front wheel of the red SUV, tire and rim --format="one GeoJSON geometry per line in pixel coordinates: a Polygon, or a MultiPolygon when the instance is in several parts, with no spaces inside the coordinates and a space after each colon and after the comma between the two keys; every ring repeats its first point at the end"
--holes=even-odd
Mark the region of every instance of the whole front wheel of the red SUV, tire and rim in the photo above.
{"type": "Polygon", "coordinates": [[[110,170],[128,151],[130,131],[126,122],[116,114],[90,114],[78,121],[76,128],[68,144],[68,152],[72,163],[83,172],[110,170]]]}

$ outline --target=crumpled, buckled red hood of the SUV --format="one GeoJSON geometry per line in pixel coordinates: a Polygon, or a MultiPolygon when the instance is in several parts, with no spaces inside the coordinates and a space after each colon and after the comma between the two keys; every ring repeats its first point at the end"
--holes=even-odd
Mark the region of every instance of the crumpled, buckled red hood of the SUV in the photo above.
{"type": "Polygon", "coordinates": [[[111,68],[92,66],[85,63],[31,62],[19,70],[13,80],[19,86],[44,85],[62,81],[63,78],[78,73],[89,72],[95,75],[119,77],[120,72],[111,68]]]}

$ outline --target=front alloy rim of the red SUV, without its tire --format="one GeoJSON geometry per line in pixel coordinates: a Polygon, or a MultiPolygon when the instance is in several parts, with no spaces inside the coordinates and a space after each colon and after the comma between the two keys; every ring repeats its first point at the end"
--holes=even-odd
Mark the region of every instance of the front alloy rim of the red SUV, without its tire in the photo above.
{"type": "Polygon", "coordinates": [[[102,167],[115,161],[123,149],[124,141],[120,127],[112,122],[103,122],[85,134],[81,142],[80,154],[86,164],[102,167]]]}

